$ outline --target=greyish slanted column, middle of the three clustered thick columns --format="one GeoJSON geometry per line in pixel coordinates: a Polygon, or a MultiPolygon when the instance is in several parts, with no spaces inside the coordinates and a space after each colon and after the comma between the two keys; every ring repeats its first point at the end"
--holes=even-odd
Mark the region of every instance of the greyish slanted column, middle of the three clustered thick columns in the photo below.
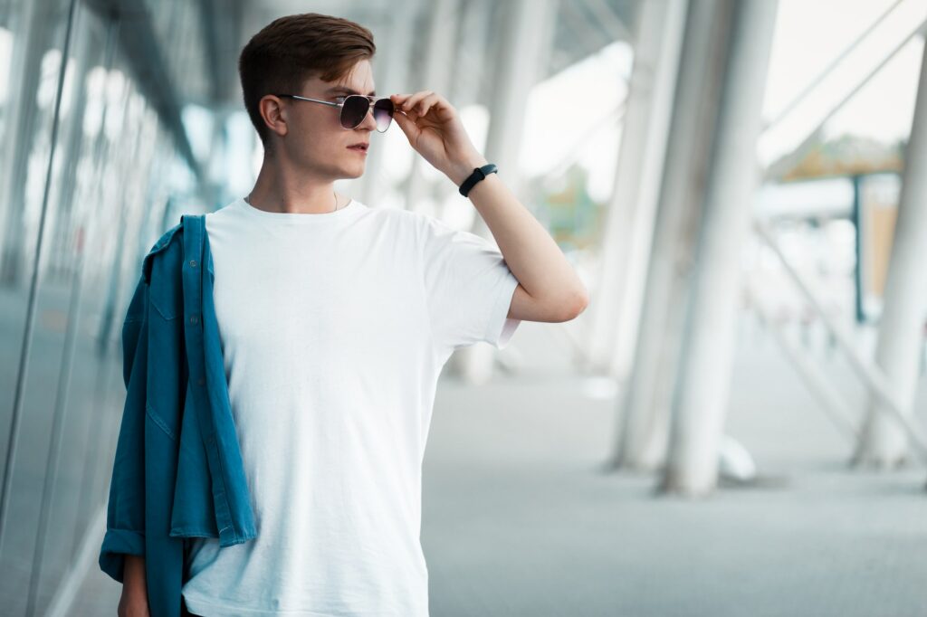
{"type": "Polygon", "coordinates": [[[666,456],[682,320],[717,102],[727,24],[722,0],[690,2],[673,95],[633,371],[623,390],[614,466],[654,470],[666,456]]]}

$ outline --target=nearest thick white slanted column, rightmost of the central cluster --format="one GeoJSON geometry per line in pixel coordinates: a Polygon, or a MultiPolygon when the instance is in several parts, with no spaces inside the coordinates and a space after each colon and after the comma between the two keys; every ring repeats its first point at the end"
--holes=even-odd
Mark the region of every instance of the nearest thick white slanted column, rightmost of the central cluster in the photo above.
{"type": "MultiPolygon", "coordinates": [[[[756,144],[776,23],[775,0],[719,6],[730,44],[702,218],[661,490],[703,495],[717,485],[741,305],[741,251],[759,178],[756,144]]],[[[715,87],[714,84],[710,87],[715,87]]]]}

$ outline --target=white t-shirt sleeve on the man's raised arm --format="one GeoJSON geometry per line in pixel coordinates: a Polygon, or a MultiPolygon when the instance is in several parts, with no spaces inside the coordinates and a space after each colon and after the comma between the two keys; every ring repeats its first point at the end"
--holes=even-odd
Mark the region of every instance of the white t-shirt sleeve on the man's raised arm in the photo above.
{"type": "Polygon", "coordinates": [[[476,233],[424,219],[425,301],[436,344],[507,346],[521,323],[507,317],[518,280],[499,248],[476,233]]]}

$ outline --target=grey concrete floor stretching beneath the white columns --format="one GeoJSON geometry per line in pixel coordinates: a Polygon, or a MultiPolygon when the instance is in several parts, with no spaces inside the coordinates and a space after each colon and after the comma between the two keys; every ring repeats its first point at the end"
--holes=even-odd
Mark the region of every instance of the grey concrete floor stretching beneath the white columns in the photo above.
{"type": "MultiPolygon", "coordinates": [[[[543,327],[516,335],[526,358],[543,327]]],[[[728,433],[777,482],[688,500],[601,472],[616,426],[601,381],[445,379],[425,456],[431,614],[927,615],[927,470],[848,471],[851,444],[762,333],[741,337],[734,384],[728,433]]],[[[927,422],[927,380],[918,413],[927,422]]],[[[114,614],[119,593],[94,569],[69,614],[114,614]]]]}

